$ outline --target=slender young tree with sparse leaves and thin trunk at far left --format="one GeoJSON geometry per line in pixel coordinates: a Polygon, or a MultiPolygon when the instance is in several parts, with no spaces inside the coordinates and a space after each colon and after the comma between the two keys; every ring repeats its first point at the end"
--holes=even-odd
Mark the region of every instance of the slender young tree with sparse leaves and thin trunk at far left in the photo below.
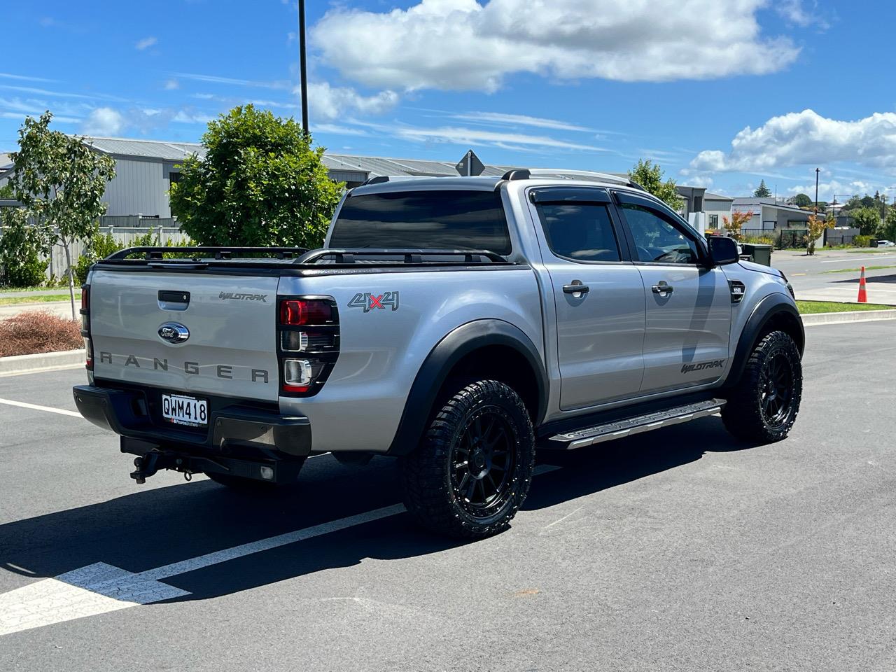
{"type": "Polygon", "coordinates": [[[102,202],[106,183],[115,177],[115,159],[93,151],[83,138],[49,129],[53,115],[25,117],[19,129],[19,151],[13,151],[13,185],[16,200],[27,218],[46,236],[41,245],[65,249],[68,292],[74,312],[72,244],[90,242],[94,224],[107,204],[102,202]]]}

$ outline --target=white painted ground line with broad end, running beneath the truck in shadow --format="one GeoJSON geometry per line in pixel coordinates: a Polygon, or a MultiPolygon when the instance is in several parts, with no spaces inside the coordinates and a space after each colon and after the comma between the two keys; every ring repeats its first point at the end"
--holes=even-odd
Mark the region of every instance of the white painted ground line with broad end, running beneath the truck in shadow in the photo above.
{"type": "MultiPolygon", "coordinates": [[[[560,467],[541,464],[534,476],[556,471],[560,467]]],[[[213,564],[225,563],[238,557],[278,548],[297,541],[320,537],[324,534],[347,530],[366,522],[403,513],[404,504],[392,504],[358,513],[338,521],[323,522],[303,530],[294,530],[252,541],[240,546],[224,548],[189,558],[177,563],[164,564],[145,572],[134,573],[106,563],[88,564],[80,569],[59,574],[53,579],[43,579],[22,588],[0,595],[0,635],[21,633],[23,630],[73,621],[85,616],[99,616],[127,607],[152,604],[163,599],[184,597],[190,593],[163,583],[162,579],[187,572],[194,572],[213,564]]]]}

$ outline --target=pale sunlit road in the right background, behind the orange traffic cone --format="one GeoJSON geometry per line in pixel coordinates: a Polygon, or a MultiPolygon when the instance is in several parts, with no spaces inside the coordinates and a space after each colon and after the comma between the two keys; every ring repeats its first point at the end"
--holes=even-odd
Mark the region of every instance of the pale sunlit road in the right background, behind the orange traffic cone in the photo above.
{"type": "Polygon", "coordinates": [[[820,250],[807,256],[802,252],[777,250],[771,254],[771,265],[784,271],[797,298],[824,301],[856,300],[859,271],[846,269],[887,266],[866,270],[868,302],[896,305],[896,248],[879,249],[886,251],[820,250]]]}

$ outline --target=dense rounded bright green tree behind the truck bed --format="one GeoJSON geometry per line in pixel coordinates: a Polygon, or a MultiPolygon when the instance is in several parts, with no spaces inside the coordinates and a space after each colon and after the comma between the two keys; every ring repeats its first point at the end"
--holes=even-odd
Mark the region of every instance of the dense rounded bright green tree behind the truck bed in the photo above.
{"type": "Polygon", "coordinates": [[[209,123],[204,159],[171,185],[171,211],[201,245],[319,247],[339,202],[323,148],[293,119],[252,105],[209,123]]]}

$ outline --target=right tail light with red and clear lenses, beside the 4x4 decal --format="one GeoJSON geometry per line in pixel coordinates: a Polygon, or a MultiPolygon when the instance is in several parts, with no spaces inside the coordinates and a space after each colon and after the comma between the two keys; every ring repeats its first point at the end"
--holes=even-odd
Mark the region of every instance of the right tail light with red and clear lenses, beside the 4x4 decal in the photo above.
{"type": "Polygon", "coordinates": [[[331,297],[280,300],[280,395],[316,394],[339,357],[339,313],[331,297]]]}

